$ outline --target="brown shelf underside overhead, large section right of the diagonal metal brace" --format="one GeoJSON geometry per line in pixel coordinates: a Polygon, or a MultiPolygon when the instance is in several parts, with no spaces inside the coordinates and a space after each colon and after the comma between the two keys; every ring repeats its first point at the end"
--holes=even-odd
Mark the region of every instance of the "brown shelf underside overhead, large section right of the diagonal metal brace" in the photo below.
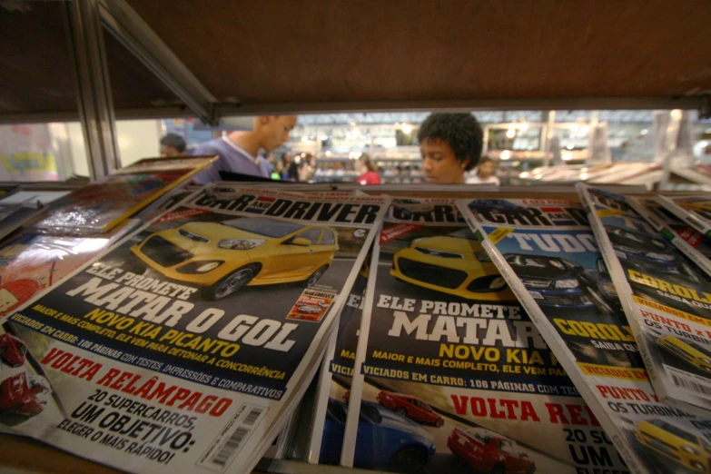
{"type": "Polygon", "coordinates": [[[711,90],[707,0],[128,0],[218,100],[711,90]]]}

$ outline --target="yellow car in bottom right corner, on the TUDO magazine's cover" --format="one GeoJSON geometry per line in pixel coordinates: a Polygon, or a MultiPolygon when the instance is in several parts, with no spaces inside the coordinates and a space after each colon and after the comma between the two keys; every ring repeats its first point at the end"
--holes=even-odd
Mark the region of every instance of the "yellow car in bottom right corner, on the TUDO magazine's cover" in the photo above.
{"type": "Polygon", "coordinates": [[[637,440],[659,454],[696,472],[711,470],[711,445],[706,439],[664,420],[642,420],[635,430],[637,440]]]}

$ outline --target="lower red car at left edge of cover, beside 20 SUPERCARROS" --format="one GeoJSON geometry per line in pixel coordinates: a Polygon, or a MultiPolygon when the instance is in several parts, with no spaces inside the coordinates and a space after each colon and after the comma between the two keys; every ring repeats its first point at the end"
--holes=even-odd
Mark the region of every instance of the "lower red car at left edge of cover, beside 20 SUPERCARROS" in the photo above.
{"type": "Polygon", "coordinates": [[[7,424],[16,424],[39,415],[49,399],[49,383],[39,375],[15,374],[0,383],[0,417],[7,424]],[[12,417],[15,423],[8,422],[12,417]]]}

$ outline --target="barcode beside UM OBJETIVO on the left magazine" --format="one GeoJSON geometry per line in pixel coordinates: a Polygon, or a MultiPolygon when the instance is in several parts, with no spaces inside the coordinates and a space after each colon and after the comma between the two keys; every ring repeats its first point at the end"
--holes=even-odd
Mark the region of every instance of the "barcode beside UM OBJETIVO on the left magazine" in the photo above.
{"type": "Polygon", "coordinates": [[[210,447],[202,454],[197,466],[216,472],[223,472],[239,454],[253,430],[259,426],[267,409],[244,404],[237,410],[210,447]]]}

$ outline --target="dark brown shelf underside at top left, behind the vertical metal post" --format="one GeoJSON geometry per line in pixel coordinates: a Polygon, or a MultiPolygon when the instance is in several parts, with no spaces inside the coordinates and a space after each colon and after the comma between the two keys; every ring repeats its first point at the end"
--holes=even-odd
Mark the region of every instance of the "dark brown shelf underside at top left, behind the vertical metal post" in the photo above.
{"type": "MultiPolygon", "coordinates": [[[[76,114],[70,49],[62,2],[25,3],[29,11],[0,7],[0,120],[3,115],[76,114]]],[[[154,104],[174,103],[175,95],[111,35],[104,35],[117,115],[154,104]]]]}

